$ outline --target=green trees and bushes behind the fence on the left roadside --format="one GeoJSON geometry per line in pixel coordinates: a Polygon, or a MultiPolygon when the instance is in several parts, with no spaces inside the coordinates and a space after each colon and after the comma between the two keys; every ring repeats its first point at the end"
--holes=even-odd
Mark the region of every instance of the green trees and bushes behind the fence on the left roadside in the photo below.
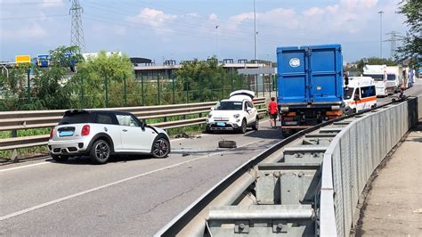
{"type": "Polygon", "coordinates": [[[77,46],[60,46],[49,52],[49,67],[24,63],[0,74],[0,110],[206,102],[248,87],[248,79],[223,69],[215,58],[183,62],[171,78],[151,80],[135,77],[126,54],[101,51],[84,59],[78,52],[77,46]]]}

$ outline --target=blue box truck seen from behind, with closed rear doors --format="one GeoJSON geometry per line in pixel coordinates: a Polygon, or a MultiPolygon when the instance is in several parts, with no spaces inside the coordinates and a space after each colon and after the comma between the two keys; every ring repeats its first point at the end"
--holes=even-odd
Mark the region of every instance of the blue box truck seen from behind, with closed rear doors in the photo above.
{"type": "Polygon", "coordinates": [[[283,135],[343,116],[341,45],[278,47],[277,70],[283,135]]]}

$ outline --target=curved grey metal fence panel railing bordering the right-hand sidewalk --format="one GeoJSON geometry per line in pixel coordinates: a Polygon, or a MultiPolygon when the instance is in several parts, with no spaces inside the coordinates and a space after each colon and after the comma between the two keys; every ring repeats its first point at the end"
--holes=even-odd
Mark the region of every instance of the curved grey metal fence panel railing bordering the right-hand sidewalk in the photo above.
{"type": "Polygon", "coordinates": [[[361,115],[333,139],[324,154],[321,236],[349,236],[369,177],[422,118],[422,95],[361,115]]]}

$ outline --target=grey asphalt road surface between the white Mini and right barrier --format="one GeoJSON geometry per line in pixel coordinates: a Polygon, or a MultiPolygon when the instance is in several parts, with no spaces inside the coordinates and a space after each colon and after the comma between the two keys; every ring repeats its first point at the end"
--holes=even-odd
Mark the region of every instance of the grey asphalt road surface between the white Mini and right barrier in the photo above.
{"type": "Polygon", "coordinates": [[[176,139],[172,145],[180,152],[167,159],[126,157],[103,166],[88,159],[65,164],[47,159],[3,167],[0,234],[150,236],[232,170],[280,141],[280,131],[268,123],[246,135],[176,139]],[[216,149],[222,138],[239,148],[216,149]]]}

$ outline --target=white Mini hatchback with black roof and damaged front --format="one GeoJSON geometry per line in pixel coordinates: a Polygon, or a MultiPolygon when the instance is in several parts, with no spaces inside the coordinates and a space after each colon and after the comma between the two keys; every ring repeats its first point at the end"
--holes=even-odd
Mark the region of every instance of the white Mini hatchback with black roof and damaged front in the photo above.
{"type": "Polygon", "coordinates": [[[120,154],[166,158],[170,139],[163,129],[148,126],[128,112],[67,110],[51,131],[48,149],[58,162],[87,155],[94,163],[104,164],[111,155],[120,154]]]}

